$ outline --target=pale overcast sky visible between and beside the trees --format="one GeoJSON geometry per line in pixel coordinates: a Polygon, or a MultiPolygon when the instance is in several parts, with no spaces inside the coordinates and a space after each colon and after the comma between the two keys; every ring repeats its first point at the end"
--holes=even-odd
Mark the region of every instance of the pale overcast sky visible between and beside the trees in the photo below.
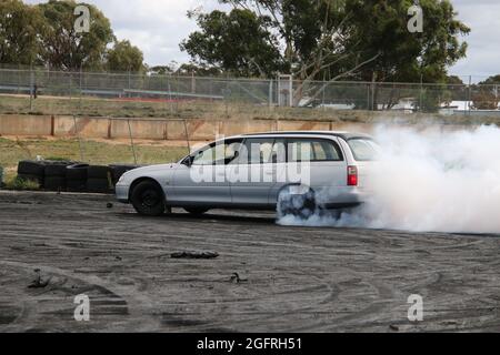
{"type": "MultiPolygon", "coordinates": [[[[43,0],[26,0],[38,3],[43,0]]],[[[111,20],[119,39],[129,39],[144,52],[150,65],[171,61],[187,62],[189,57],[179,50],[179,43],[196,30],[188,19],[188,10],[202,8],[210,11],[220,8],[217,0],[87,0],[94,3],[111,20]]],[[[459,19],[472,32],[468,58],[461,60],[450,73],[459,75],[490,75],[500,73],[500,1],[452,0],[459,19]]]]}

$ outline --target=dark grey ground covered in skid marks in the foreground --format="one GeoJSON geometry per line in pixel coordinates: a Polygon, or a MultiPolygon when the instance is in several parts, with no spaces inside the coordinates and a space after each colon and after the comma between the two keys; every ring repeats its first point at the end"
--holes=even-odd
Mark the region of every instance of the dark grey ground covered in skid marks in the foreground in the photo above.
{"type": "Polygon", "coordinates": [[[0,192],[0,332],[498,332],[499,254],[494,235],[150,219],[112,196],[0,192]],[[171,257],[184,251],[219,256],[171,257]]]}

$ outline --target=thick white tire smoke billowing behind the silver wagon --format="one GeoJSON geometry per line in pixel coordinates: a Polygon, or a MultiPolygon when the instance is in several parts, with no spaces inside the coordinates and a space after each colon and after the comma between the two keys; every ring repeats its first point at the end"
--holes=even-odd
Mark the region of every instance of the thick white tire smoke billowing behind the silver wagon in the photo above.
{"type": "MultiPolygon", "coordinates": [[[[500,129],[379,126],[382,153],[367,184],[370,200],[339,216],[291,215],[286,225],[500,233],[500,129]]],[[[329,193],[320,191],[321,195],[329,193]]]]}

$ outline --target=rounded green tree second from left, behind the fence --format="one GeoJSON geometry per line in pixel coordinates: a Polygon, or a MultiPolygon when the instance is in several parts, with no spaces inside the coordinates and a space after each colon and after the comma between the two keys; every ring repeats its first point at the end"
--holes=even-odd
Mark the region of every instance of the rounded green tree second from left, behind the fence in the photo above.
{"type": "Polygon", "coordinates": [[[107,45],[114,40],[110,21],[94,6],[80,4],[90,10],[90,31],[87,33],[74,30],[77,2],[73,0],[49,0],[37,6],[46,21],[46,30],[39,33],[46,64],[70,70],[102,69],[107,45]]]}

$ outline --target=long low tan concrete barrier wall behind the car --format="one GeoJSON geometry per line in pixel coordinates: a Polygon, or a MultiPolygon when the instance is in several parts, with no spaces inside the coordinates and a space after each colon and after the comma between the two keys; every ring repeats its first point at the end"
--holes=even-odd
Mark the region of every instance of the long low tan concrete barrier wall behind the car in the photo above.
{"type": "MultiPolygon", "coordinates": [[[[376,121],[373,121],[376,122],[376,121]]],[[[422,123],[422,122],[421,122],[422,123]]],[[[339,120],[160,120],[160,119],[108,119],[66,115],[0,114],[0,135],[59,136],[86,139],[129,139],[129,130],[138,140],[211,141],[220,136],[268,131],[356,131],[370,133],[377,123],[343,122],[339,120]],[[130,123],[130,129],[129,129],[130,123]]],[[[414,124],[411,122],[401,124],[414,124]]],[[[436,124],[439,124],[437,122],[436,124]]],[[[428,125],[428,124],[426,124],[428,125]]],[[[459,126],[456,122],[450,126],[459,126]]]]}

